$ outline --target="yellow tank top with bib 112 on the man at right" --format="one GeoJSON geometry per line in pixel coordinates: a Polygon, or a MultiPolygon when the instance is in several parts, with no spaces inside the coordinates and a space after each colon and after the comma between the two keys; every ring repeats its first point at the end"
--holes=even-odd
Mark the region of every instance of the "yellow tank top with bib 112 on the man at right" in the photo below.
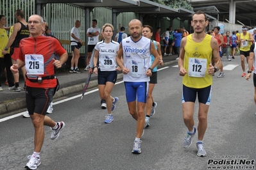
{"type": "Polygon", "coordinates": [[[187,70],[182,83],[189,88],[206,88],[212,84],[212,75],[207,68],[212,61],[212,36],[206,35],[202,42],[192,40],[192,35],[187,36],[183,66],[187,70]]]}

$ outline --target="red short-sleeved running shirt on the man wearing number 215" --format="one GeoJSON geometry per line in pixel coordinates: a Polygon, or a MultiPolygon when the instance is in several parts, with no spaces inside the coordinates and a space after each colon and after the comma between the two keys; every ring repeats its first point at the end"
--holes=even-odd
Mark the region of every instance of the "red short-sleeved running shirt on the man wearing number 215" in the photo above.
{"type": "MultiPolygon", "coordinates": [[[[19,49],[19,59],[24,62],[26,60],[25,54],[40,54],[44,56],[44,75],[40,75],[42,77],[55,74],[53,58],[55,58],[56,54],[62,56],[66,52],[60,42],[51,36],[24,38],[19,44],[19,49]]],[[[56,83],[56,79],[46,79],[41,83],[28,80],[26,81],[26,86],[31,88],[55,88],[56,83]]]]}

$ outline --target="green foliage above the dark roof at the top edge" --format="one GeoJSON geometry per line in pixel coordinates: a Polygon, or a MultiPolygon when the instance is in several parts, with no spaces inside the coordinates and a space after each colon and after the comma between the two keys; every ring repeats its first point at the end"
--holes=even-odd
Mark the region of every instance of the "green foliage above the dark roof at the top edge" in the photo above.
{"type": "Polygon", "coordinates": [[[149,0],[153,1],[158,4],[164,4],[166,6],[169,6],[171,8],[185,8],[187,10],[193,10],[191,4],[189,3],[189,0],[149,0]]]}

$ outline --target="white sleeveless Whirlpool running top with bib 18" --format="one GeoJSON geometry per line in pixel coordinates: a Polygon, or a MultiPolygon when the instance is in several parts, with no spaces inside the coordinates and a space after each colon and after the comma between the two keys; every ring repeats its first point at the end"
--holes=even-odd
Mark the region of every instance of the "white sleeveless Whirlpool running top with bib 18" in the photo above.
{"type": "Polygon", "coordinates": [[[151,40],[144,36],[137,42],[133,42],[130,36],[122,40],[124,66],[130,70],[124,74],[124,81],[149,81],[146,71],[151,66],[150,45],[151,40]]]}

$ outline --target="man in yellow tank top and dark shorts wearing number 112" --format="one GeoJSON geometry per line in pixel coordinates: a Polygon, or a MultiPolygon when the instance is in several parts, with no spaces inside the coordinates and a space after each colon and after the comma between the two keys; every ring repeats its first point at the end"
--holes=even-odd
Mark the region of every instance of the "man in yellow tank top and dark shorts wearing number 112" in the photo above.
{"type": "Polygon", "coordinates": [[[183,148],[189,148],[192,137],[196,134],[194,127],[194,102],[198,94],[198,141],[196,148],[199,157],[207,155],[203,148],[203,136],[207,129],[207,112],[209,110],[212,91],[212,74],[222,66],[219,57],[219,45],[215,38],[205,33],[205,27],[209,24],[207,15],[199,11],[192,15],[191,26],[194,33],[182,38],[180,59],[178,66],[180,76],[183,76],[182,84],[182,111],[183,121],[188,128],[183,141],[183,148]],[[212,66],[212,55],[215,66],[212,66]]]}

